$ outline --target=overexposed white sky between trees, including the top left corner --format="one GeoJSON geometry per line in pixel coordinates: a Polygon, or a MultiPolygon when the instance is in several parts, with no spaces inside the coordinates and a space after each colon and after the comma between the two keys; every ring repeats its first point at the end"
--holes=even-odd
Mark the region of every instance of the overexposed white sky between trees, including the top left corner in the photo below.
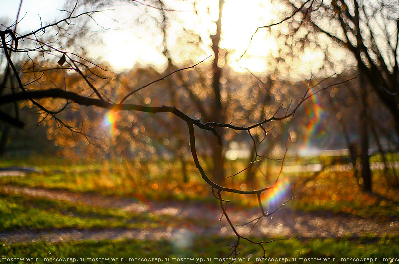
{"type": "MultiPolygon", "coordinates": [[[[64,17],[65,13],[57,10],[62,9],[65,0],[24,0],[20,19],[23,20],[18,24],[18,32],[31,31],[40,27],[40,17],[43,24],[53,21],[56,17],[64,17]],[[40,17],[39,17],[40,15],[40,17]]],[[[146,1],[149,3],[149,1],[146,1]]],[[[209,31],[215,31],[215,24],[212,20],[217,19],[218,10],[217,2],[214,0],[198,0],[197,8],[200,14],[200,20],[193,19],[192,5],[188,1],[169,0],[165,1],[170,4],[173,9],[182,12],[173,12],[176,21],[184,21],[184,26],[188,29],[198,32],[204,42],[204,54],[198,55],[194,60],[200,60],[207,55],[212,54],[209,39],[209,31]],[[216,4],[215,4],[216,3],[216,4]],[[209,11],[208,6],[210,6],[209,11]]],[[[14,21],[19,6],[19,0],[0,0],[0,17],[8,17],[14,21]]],[[[160,45],[162,38],[156,31],[151,32],[149,28],[149,20],[144,19],[144,6],[134,6],[126,1],[115,1],[112,8],[103,13],[96,14],[95,18],[99,25],[109,28],[104,31],[101,27],[93,23],[93,30],[99,31],[102,36],[102,44],[96,45],[91,51],[91,56],[101,57],[108,61],[116,71],[129,69],[134,65],[146,66],[152,65],[160,70],[166,64],[166,60],[162,55],[160,45]]],[[[241,67],[247,67],[253,72],[267,71],[268,56],[277,47],[277,43],[273,37],[265,34],[266,30],[260,30],[255,35],[254,40],[247,52],[247,57],[242,58],[239,64],[236,60],[247,48],[251,35],[258,26],[266,25],[275,21],[275,14],[271,10],[275,6],[268,0],[226,0],[223,10],[222,31],[223,39],[220,43],[222,48],[229,50],[228,64],[236,71],[244,71],[241,67]]],[[[158,10],[149,9],[150,14],[156,15],[158,10]]],[[[148,16],[148,15],[147,15],[148,16]]],[[[150,19],[151,20],[151,19],[150,19]]],[[[4,20],[2,20],[3,22],[4,20]]],[[[151,23],[151,22],[150,22],[151,23]]],[[[175,22],[177,23],[177,22],[175,22]]],[[[176,42],[181,32],[176,32],[177,37],[172,37],[168,43],[176,42]]],[[[180,56],[184,56],[185,48],[180,48],[180,56]]],[[[186,54],[187,55],[187,54],[186,54]]],[[[319,68],[320,62],[314,58],[315,54],[308,54],[306,60],[307,69],[319,68]]],[[[190,56],[192,57],[192,56],[190,56]]],[[[316,56],[317,57],[317,56],[316,56]]]]}

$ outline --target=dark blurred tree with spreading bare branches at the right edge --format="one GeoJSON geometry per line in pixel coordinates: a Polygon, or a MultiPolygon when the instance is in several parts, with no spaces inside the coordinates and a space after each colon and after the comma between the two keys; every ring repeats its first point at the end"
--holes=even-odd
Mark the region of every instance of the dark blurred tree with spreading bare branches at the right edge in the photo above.
{"type": "MultiPolygon", "coordinates": [[[[278,35],[285,52],[279,58],[287,68],[301,56],[316,55],[324,58],[317,72],[319,76],[360,73],[356,92],[340,92],[348,94],[348,101],[356,102],[360,109],[355,118],[358,123],[358,139],[355,141],[359,148],[362,185],[364,190],[371,192],[370,148],[380,146],[378,151],[384,156],[386,152],[397,150],[399,143],[399,5],[386,0],[288,0],[285,3],[287,12],[294,15],[284,21],[280,29],[270,30],[280,30],[278,35]],[[385,133],[377,133],[375,122],[386,116],[387,111],[391,115],[390,121],[377,122],[385,133]],[[389,143],[381,147],[381,140],[389,140],[389,143]],[[373,146],[371,142],[374,142],[373,146]]],[[[284,17],[286,15],[282,13],[281,18],[284,17]]],[[[353,148],[355,141],[349,142],[348,146],[353,148]]]]}

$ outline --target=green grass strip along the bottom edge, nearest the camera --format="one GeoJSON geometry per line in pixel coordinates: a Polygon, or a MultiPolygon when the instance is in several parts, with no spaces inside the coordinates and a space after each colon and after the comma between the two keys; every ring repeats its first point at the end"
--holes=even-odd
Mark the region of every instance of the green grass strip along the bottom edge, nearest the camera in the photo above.
{"type": "MultiPolygon", "coordinates": [[[[201,237],[190,241],[185,247],[179,247],[175,240],[139,241],[139,240],[102,240],[102,241],[70,241],[61,243],[1,243],[1,258],[42,258],[41,262],[20,261],[19,263],[44,263],[44,258],[79,258],[77,263],[115,263],[115,261],[87,261],[86,258],[160,258],[161,261],[141,261],[141,263],[182,263],[172,261],[172,258],[202,258],[201,263],[217,263],[213,258],[224,258],[229,253],[227,244],[234,243],[235,238],[201,237]],[[168,258],[168,261],[164,258],[168,258]],[[211,258],[211,261],[206,261],[211,258]]],[[[382,263],[383,258],[397,258],[399,252],[399,237],[361,237],[327,238],[327,239],[289,239],[265,244],[266,257],[287,258],[288,262],[270,261],[268,263],[326,263],[304,262],[299,258],[338,258],[333,263],[382,263]],[[290,261],[295,258],[296,261],[290,261]],[[341,261],[341,258],[380,258],[380,261],[341,261]]],[[[259,246],[245,243],[239,246],[239,258],[246,261],[236,263],[256,263],[261,257],[259,246]],[[253,258],[253,262],[248,262],[253,258]]],[[[1,259],[0,259],[1,260],[1,259]]],[[[123,261],[120,261],[123,262],[123,261]]],[[[3,262],[6,263],[6,262],[3,262]]],[[[49,262],[46,262],[49,263],[49,262]]],[[[66,263],[56,261],[53,263],[66,263]]],[[[131,262],[133,263],[133,261],[131,262]]],[[[136,262],[138,263],[138,262],[136,262]]],[[[183,263],[195,263],[187,261],[183,263]]],[[[262,262],[265,263],[265,262],[262,262]]],[[[388,263],[388,262],[387,262],[388,263]]]]}

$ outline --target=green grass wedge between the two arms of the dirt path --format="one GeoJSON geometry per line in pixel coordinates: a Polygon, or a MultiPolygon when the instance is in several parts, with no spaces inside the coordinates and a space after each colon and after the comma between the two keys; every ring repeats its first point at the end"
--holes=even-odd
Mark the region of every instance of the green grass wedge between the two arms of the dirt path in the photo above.
{"type": "Polygon", "coordinates": [[[49,228],[157,227],[154,217],[0,192],[0,230],[49,228]]]}

